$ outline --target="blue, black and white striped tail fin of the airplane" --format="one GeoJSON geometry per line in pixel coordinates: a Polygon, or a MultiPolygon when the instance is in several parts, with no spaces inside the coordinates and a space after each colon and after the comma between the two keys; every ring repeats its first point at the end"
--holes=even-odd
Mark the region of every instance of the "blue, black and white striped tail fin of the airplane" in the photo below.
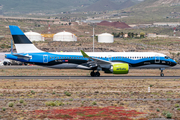
{"type": "Polygon", "coordinates": [[[32,44],[18,26],[10,25],[9,29],[11,31],[17,53],[42,52],[32,44]]]}

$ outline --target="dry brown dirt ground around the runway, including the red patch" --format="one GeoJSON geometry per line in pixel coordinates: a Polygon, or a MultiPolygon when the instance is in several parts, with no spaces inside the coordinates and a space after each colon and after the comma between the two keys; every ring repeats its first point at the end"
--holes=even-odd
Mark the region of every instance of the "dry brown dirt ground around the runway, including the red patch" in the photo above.
{"type": "MultiPolygon", "coordinates": [[[[128,76],[159,76],[159,73],[159,70],[131,70],[128,76]]],[[[168,69],[164,73],[178,76],[180,70],[168,69]]],[[[89,76],[89,71],[0,71],[0,76],[7,75],[89,76]]],[[[0,80],[0,119],[3,120],[151,118],[180,120],[180,79],[0,80]]]]}

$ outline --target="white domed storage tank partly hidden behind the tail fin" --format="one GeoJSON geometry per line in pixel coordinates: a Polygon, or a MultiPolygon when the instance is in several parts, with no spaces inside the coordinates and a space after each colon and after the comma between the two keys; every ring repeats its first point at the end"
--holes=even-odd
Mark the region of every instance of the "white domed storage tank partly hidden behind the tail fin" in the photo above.
{"type": "Polygon", "coordinates": [[[44,41],[44,37],[41,36],[41,34],[36,33],[36,32],[25,32],[24,33],[26,35],[27,38],[29,38],[29,40],[31,42],[33,41],[44,41]]]}

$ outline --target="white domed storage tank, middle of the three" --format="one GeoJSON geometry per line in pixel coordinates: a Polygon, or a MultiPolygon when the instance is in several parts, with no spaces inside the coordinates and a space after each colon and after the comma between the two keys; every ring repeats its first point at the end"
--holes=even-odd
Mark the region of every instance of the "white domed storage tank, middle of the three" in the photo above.
{"type": "Polygon", "coordinates": [[[54,35],[53,41],[77,41],[77,37],[70,32],[59,32],[54,35]]]}

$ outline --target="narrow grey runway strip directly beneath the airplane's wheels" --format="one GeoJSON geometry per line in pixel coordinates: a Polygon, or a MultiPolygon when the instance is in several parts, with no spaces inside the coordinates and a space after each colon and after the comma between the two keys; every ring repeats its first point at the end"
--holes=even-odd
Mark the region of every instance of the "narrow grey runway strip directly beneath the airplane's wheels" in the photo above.
{"type": "Polygon", "coordinates": [[[180,79],[180,76],[0,76],[0,79],[180,79]]]}

